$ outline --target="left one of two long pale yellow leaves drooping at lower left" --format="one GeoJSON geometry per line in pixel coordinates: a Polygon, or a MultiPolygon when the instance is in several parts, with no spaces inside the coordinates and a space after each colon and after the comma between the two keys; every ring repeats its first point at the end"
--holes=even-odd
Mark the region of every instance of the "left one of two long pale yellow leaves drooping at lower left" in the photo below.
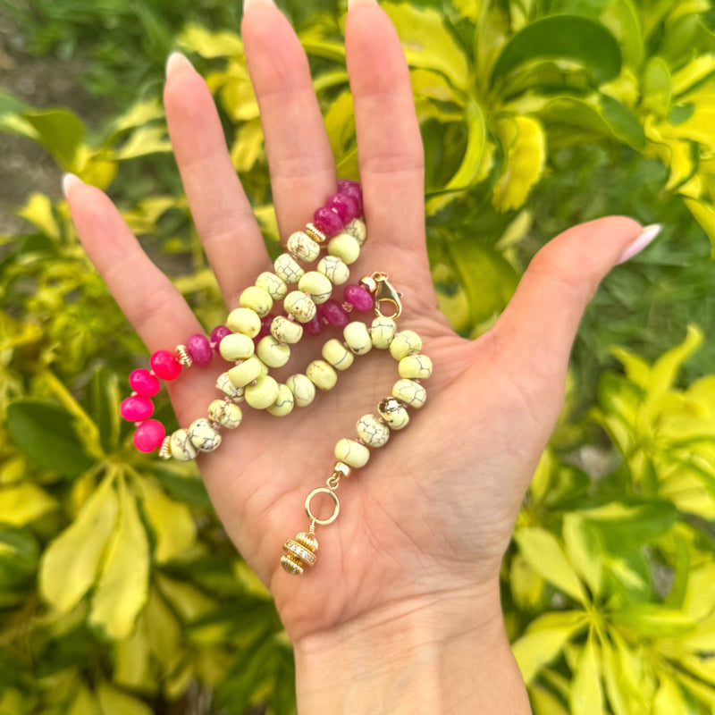
{"type": "Polygon", "coordinates": [[[77,518],[46,548],[39,568],[39,592],[54,610],[67,613],[94,584],[118,510],[114,479],[106,476],[77,518]]]}

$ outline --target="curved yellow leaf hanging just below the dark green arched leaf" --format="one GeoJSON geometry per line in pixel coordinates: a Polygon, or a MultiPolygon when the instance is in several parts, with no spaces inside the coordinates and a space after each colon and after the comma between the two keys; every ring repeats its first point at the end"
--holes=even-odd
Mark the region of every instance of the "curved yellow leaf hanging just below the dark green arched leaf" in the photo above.
{"type": "Polygon", "coordinates": [[[496,120],[494,133],[500,140],[505,161],[494,186],[492,204],[498,211],[524,206],[539,181],[546,159],[546,135],[533,117],[512,116],[496,120]]]}

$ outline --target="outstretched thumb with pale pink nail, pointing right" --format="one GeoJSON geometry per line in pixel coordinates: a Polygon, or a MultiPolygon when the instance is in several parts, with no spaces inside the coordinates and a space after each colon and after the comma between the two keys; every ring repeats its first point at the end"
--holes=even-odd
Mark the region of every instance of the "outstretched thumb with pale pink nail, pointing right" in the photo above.
{"type": "Polygon", "coordinates": [[[608,216],[564,231],[534,256],[494,326],[501,367],[526,396],[545,398],[542,405],[556,410],[554,418],[588,301],[603,276],[643,250],[660,228],[608,216]]]}

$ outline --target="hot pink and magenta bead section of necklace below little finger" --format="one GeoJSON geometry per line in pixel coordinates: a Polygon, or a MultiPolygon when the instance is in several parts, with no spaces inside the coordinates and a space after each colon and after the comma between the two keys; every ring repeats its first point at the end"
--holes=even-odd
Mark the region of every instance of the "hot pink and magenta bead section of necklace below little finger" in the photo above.
{"type": "Polygon", "coordinates": [[[185,345],[177,345],[173,352],[156,350],[149,359],[151,370],[139,368],[130,374],[132,392],[130,397],[122,400],[120,414],[137,425],[132,441],[139,451],[156,450],[164,442],[164,425],[156,419],[151,419],[154,414],[154,402],[151,398],[161,389],[159,381],[175,380],[184,367],[209,365],[213,357],[212,349],[218,350],[223,337],[230,332],[225,325],[219,325],[211,332],[210,339],[198,333],[191,335],[185,345]]]}

